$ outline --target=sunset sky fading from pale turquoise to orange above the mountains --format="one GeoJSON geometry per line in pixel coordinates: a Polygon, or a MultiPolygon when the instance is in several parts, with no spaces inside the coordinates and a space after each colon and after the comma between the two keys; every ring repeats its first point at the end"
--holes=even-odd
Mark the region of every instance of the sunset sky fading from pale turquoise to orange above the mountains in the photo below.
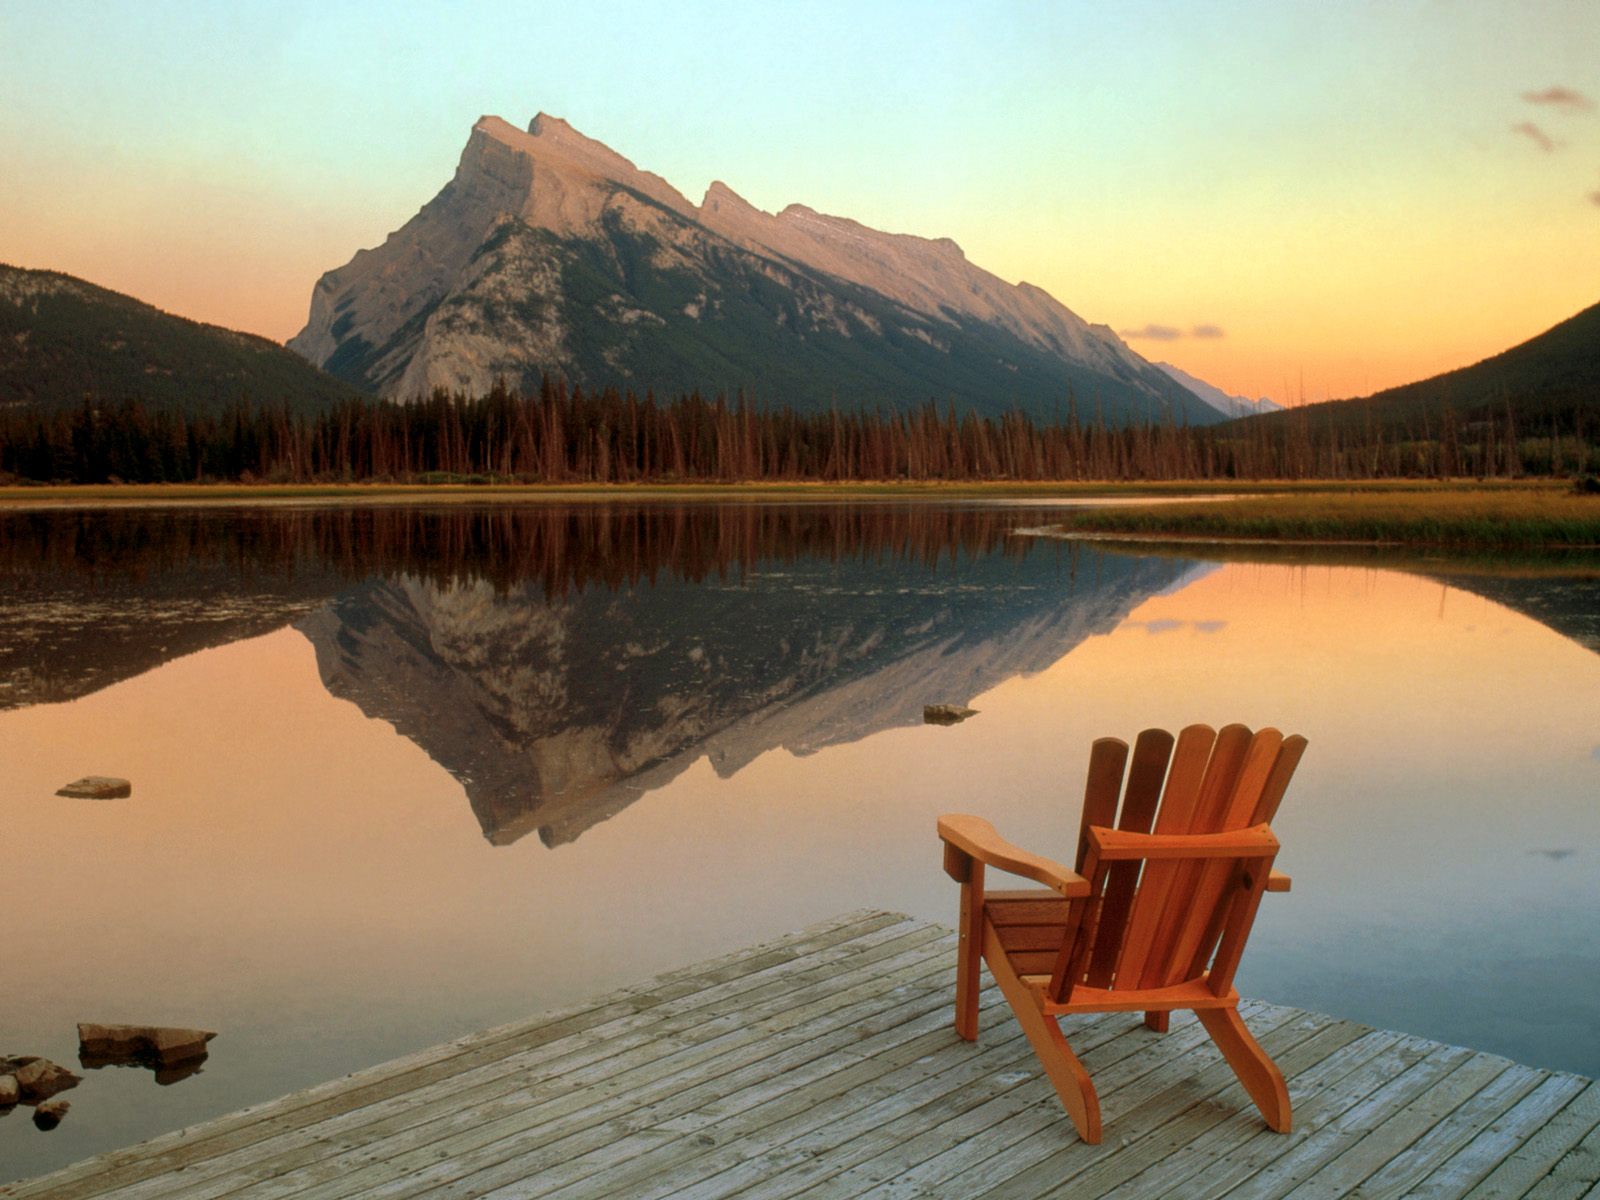
{"type": "Polygon", "coordinates": [[[283,341],[541,110],[1285,403],[1600,301],[1595,0],[0,0],[0,261],[283,341]]]}

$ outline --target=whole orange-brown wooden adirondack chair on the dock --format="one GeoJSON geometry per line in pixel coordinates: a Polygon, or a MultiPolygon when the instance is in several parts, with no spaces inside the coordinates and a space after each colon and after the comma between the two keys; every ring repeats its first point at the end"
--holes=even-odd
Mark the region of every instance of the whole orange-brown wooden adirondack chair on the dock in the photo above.
{"type": "Polygon", "coordinates": [[[1262,891],[1290,890],[1267,822],[1304,750],[1243,725],[1146,730],[1123,790],[1128,744],[1096,741],[1075,869],[981,818],[939,818],[944,870],[962,885],[955,1030],[978,1037],[986,962],[1083,1141],[1101,1139],[1099,1098],[1061,1034],[1070,1013],[1142,1011],[1165,1030],[1174,1008],[1194,1010],[1267,1125],[1290,1131],[1283,1074],[1238,1018],[1234,971],[1262,891]],[[986,893],[984,867],[1045,888],[986,893]]]}

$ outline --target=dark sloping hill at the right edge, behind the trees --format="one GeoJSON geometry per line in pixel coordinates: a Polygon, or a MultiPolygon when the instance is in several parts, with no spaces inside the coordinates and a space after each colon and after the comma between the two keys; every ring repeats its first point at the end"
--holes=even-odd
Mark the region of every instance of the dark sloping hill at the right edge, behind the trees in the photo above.
{"type": "Polygon", "coordinates": [[[1568,434],[1582,427],[1594,437],[1600,422],[1600,304],[1493,358],[1357,400],[1304,405],[1293,419],[1304,416],[1314,427],[1429,427],[1437,435],[1446,410],[1470,424],[1502,421],[1507,406],[1523,434],[1544,434],[1554,424],[1568,434]]]}

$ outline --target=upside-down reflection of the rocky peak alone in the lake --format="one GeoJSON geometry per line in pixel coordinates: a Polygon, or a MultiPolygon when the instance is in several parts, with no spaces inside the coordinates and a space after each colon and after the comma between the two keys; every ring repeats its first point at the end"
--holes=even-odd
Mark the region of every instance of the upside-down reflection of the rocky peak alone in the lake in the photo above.
{"type": "Polygon", "coordinates": [[[454,774],[490,842],[554,846],[701,755],[726,778],[1043,670],[1181,574],[1043,547],[968,562],[958,586],[861,555],[557,597],[403,576],[298,627],[328,691],[454,774]]]}

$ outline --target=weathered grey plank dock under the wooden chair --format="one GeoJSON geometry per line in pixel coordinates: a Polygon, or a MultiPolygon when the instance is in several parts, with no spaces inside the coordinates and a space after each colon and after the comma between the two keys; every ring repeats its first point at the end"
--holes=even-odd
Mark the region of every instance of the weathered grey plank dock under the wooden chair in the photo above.
{"type": "Polygon", "coordinates": [[[1069,1027],[1106,1114],[1085,1146],[992,987],[955,1037],[952,976],[949,930],[850,914],[0,1195],[1600,1195],[1590,1080],[1264,1003],[1294,1133],[1192,1016],[1109,1014],[1069,1027]]]}

